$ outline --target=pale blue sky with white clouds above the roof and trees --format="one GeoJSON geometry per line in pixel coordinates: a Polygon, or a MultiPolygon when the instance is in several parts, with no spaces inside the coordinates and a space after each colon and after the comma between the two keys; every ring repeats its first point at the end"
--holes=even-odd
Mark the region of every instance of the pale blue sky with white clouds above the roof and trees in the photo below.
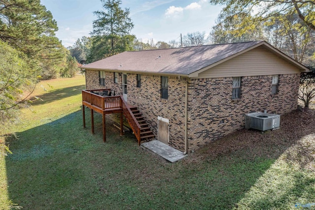
{"type": "MultiPolygon", "coordinates": [[[[41,4],[52,12],[59,27],[56,35],[65,47],[89,36],[96,19],[93,12],[102,9],[100,0],[41,0],[41,4]]],[[[121,7],[130,10],[131,34],[143,42],[153,38],[155,43],[197,31],[208,34],[222,8],[208,0],[122,0],[121,7]]]]}

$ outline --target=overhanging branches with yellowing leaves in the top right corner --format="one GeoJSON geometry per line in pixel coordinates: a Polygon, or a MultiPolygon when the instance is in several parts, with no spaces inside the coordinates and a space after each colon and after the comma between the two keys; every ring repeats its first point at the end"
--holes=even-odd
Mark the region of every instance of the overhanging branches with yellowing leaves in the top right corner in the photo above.
{"type": "MultiPolygon", "coordinates": [[[[314,0],[209,0],[211,4],[225,5],[220,17],[232,17],[240,13],[251,14],[252,25],[277,14],[296,13],[298,17],[315,31],[314,0]]],[[[242,25],[240,25],[241,29],[242,25]]]]}

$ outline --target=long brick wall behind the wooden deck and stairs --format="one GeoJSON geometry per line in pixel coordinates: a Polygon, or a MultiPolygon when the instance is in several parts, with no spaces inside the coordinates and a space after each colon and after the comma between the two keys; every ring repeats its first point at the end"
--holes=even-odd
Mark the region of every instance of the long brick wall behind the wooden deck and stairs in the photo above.
{"type": "MultiPolygon", "coordinates": [[[[122,73],[114,83],[114,73],[105,73],[105,86],[99,85],[98,71],[87,70],[87,89],[114,89],[122,95],[122,73]]],[[[185,87],[186,83],[169,77],[168,99],[161,99],[160,76],[141,75],[141,87],[136,87],[136,74],[127,74],[127,103],[137,106],[153,133],[158,137],[158,116],[169,119],[169,145],[184,151],[185,135],[185,87]]],[[[116,115],[111,115],[115,117],[116,115]]]]}

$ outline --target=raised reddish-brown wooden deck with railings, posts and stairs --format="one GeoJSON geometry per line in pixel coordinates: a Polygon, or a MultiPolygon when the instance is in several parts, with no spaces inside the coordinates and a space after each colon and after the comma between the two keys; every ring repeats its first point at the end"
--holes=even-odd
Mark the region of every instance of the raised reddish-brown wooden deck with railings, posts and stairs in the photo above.
{"type": "Polygon", "coordinates": [[[151,139],[153,135],[148,124],[145,122],[142,114],[138,111],[137,107],[128,105],[123,96],[110,96],[110,89],[98,89],[98,90],[83,90],[82,91],[82,112],[83,112],[83,127],[85,124],[85,106],[91,109],[91,123],[92,133],[94,130],[94,111],[102,114],[103,121],[103,141],[106,141],[106,122],[105,115],[112,113],[121,113],[120,115],[120,130],[123,135],[123,115],[125,115],[134,135],[140,145],[141,140],[151,139]],[[137,117],[135,117],[135,115],[137,117]]]}

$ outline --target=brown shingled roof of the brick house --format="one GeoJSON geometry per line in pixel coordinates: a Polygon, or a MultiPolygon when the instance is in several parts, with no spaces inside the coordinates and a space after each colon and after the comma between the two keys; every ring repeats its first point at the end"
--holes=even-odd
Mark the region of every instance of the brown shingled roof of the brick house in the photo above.
{"type": "Polygon", "coordinates": [[[286,56],[265,41],[250,41],[230,44],[202,45],[194,47],[126,51],[81,68],[86,70],[113,70],[155,74],[186,75],[220,64],[255,47],[264,45],[278,56],[300,69],[303,65],[286,56]]]}

